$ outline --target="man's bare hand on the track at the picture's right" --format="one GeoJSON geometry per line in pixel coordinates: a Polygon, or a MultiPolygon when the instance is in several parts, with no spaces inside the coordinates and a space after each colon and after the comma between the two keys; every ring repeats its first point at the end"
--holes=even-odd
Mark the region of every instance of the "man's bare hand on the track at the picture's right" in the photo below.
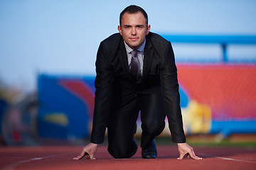
{"type": "Polygon", "coordinates": [[[177,159],[183,159],[185,154],[187,154],[188,158],[191,157],[193,159],[202,159],[201,157],[196,156],[196,154],[193,152],[193,148],[186,143],[178,143],[178,152],[180,157],[177,159]]]}

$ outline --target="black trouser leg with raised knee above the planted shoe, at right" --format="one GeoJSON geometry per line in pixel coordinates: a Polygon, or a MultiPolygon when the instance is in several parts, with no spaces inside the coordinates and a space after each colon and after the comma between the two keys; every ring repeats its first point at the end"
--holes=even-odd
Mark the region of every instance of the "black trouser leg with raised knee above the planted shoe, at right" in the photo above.
{"type": "Polygon", "coordinates": [[[139,96],[142,120],[141,147],[147,148],[154,137],[161,134],[165,127],[166,113],[164,103],[159,94],[143,94],[139,96]]]}

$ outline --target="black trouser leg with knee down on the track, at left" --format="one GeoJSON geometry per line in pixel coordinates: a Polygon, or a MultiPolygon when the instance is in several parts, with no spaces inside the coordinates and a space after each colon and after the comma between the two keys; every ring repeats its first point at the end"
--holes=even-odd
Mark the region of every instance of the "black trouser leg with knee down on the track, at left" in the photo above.
{"type": "Polygon", "coordinates": [[[108,126],[108,152],[114,158],[129,158],[137,152],[134,125],[138,117],[137,98],[122,98],[120,107],[111,116],[108,126]]]}

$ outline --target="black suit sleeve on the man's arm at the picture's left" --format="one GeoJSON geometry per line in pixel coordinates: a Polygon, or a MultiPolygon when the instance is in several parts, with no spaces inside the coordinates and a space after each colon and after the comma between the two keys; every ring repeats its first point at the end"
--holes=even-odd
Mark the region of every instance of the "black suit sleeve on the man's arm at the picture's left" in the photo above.
{"type": "Polygon", "coordinates": [[[110,115],[112,83],[114,79],[112,70],[107,61],[107,52],[102,42],[97,51],[96,73],[95,108],[90,142],[100,144],[104,142],[105,130],[110,115]]]}

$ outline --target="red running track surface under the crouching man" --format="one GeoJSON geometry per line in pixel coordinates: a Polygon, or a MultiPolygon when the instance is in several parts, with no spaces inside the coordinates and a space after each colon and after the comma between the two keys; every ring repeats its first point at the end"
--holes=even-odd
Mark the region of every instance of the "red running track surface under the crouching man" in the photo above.
{"type": "Polygon", "coordinates": [[[256,169],[256,149],[249,147],[194,147],[202,160],[177,160],[176,146],[159,146],[157,159],[113,159],[99,147],[96,160],[73,160],[82,147],[0,147],[0,169],[256,169]]]}

